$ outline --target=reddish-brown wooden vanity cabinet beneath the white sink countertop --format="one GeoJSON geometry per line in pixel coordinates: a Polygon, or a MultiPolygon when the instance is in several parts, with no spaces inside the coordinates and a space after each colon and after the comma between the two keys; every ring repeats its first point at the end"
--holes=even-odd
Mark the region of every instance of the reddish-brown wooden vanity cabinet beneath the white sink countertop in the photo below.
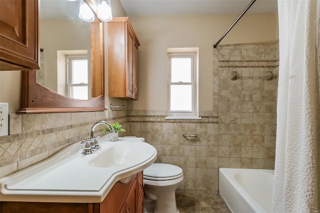
{"type": "MultiPolygon", "coordinates": [[[[1,213],[142,213],[142,171],[126,184],[116,182],[100,203],[0,202],[1,213]]],[[[89,184],[89,183],[88,183],[89,184]]]]}

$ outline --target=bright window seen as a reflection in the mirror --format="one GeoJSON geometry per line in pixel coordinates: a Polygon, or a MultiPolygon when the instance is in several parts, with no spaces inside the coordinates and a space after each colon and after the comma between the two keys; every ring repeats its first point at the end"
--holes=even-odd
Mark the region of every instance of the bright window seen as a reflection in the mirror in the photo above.
{"type": "Polygon", "coordinates": [[[88,60],[87,56],[67,56],[67,96],[75,99],[88,99],[88,60]]]}

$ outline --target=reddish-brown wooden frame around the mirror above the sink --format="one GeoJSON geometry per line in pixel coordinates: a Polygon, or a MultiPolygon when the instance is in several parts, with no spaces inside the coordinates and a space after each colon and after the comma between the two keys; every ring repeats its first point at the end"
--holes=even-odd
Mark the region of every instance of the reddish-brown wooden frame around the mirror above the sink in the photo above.
{"type": "MultiPolygon", "coordinates": [[[[72,2],[72,1],[69,1],[72,2]]],[[[21,80],[21,108],[19,113],[45,113],[67,111],[99,111],[104,107],[104,30],[103,22],[96,17],[94,0],[85,0],[94,11],[90,23],[91,78],[88,99],[75,99],[50,89],[37,81],[37,70],[23,70],[21,80]]],[[[64,7],[65,8],[65,7],[64,7]]],[[[40,50],[39,46],[39,50],[40,50]]],[[[51,57],[50,57],[51,59],[51,57]]],[[[52,59],[53,60],[53,59],[52,59]]],[[[51,80],[51,78],[49,79],[51,80]]]]}

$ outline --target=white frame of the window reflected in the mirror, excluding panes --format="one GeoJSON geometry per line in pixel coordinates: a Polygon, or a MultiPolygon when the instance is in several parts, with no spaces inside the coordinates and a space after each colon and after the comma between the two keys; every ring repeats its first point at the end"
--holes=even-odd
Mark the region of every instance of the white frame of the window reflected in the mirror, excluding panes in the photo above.
{"type": "MultiPolygon", "coordinates": [[[[89,89],[89,82],[87,83],[71,83],[72,80],[72,73],[73,73],[73,66],[72,66],[72,61],[73,60],[88,60],[87,55],[66,55],[66,63],[67,63],[67,71],[66,71],[66,94],[67,97],[74,98],[73,93],[72,93],[72,87],[75,86],[86,86],[87,90],[89,89]]],[[[87,75],[88,75],[88,70],[87,70],[87,75]]],[[[88,79],[89,80],[89,79],[88,79]]],[[[89,95],[89,91],[88,91],[89,95]]]]}

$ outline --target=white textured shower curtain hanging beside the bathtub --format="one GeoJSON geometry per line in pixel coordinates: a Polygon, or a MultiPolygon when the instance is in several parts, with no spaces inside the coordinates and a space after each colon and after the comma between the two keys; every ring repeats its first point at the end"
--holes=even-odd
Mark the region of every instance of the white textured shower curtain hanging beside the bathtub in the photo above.
{"type": "Polygon", "coordinates": [[[319,212],[320,0],[278,0],[272,212],[319,212]]]}

